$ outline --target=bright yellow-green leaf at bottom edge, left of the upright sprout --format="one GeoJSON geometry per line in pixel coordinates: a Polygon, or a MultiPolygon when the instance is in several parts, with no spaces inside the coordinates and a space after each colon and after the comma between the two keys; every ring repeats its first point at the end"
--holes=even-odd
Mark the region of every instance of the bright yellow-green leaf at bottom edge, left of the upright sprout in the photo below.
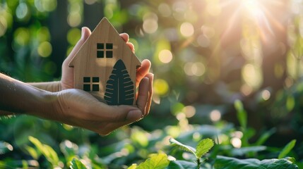
{"type": "Polygon", "coordinates": [[[162,169],[166,168],[170,164],[167,159],[167,155],[164,153],[156,154],[146,161],[138,165],[136,169],[162,169]]]}

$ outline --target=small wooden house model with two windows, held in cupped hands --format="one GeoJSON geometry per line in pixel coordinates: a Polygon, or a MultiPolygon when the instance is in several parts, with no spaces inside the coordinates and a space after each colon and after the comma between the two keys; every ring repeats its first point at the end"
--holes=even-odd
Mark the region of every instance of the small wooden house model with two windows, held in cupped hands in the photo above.
{"type": "Polygon", "coordinates": [[[136,69],[140,66],[107,18],[102,18],[69,63],[74,71],[74,87],[109,105],[136,104],[136,69]]]}

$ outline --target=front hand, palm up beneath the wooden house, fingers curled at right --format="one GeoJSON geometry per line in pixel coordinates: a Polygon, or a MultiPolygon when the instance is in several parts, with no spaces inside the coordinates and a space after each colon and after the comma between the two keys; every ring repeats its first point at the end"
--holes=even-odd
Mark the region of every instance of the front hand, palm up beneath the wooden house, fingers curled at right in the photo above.
{"type": "Polygon", "coordinates": [[[81,89],[57,92],[51,118],[61,123],[83,127],[101,135],[129,125],[148,115],[153,75],[143,77],[138,88],[137,105],[108,106],[81,89]]]}

